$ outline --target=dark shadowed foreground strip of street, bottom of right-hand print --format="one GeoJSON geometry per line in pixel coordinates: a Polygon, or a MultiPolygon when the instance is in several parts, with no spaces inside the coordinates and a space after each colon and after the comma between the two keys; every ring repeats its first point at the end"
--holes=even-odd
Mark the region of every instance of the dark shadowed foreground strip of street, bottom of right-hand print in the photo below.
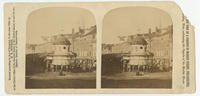
{"type": "Polygon", "coordinates": [[[172,88],[170,79],[102,79],[102,88],[172,88]]]}

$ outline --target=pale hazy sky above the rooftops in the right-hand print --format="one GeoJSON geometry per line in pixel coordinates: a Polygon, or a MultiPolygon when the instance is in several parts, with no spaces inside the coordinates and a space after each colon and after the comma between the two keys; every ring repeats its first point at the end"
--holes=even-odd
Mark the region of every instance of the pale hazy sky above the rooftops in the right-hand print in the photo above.
{"type": "Polygon", "coordinates": [[[151,7],[124,7],[109,11],[104,16],[102,42],[119,43],[118,36],[147,33],[155,27],[164,28],[172,25],[168,13],[151,7]]]}

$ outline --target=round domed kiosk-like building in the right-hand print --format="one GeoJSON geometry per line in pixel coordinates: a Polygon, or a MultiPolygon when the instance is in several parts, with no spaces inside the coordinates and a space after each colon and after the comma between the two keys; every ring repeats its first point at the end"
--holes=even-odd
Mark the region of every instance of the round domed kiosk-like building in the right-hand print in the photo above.
{"type": "Polygon", "coordinates": [[[152,63],[153,54],[147,51],[147,42],[137,36],[129,41],[130,52],[123,56],[123,71],[144,71],[152,63]]]}

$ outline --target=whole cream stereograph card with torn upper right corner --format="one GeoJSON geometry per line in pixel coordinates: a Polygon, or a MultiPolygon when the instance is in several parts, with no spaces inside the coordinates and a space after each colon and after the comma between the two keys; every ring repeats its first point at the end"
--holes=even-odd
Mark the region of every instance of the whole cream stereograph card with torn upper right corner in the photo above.
{"type": "Polygon", "coordinates": [[[194,27],[174,2],[4,4],[9,94],[193,93],[194,27]]]}

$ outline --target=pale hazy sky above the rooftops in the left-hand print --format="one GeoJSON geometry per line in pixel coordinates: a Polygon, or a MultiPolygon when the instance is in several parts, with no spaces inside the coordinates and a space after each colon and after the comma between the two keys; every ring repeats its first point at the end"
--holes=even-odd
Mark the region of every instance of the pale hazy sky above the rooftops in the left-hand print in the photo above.
{"type": "Polygon", "coordinates": [[[29,14],[27,19],[27,43],[40,44],[43,36],[70,34],[79,26],[96,25],[91,12],[82,8],[49,7],[41,8],[29,14]]]}

